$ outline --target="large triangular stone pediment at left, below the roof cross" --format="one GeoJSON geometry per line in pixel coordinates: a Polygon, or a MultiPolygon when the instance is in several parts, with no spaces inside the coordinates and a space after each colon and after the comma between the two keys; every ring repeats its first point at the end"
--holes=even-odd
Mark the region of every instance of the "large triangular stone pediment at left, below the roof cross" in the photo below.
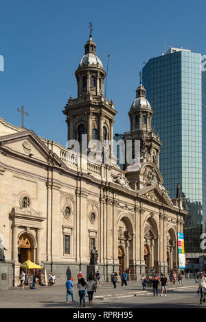
{"type": "Polygon", "coordinates": [[[56,153],[49,150],[32,130],[0,136],[0,145],[10,152],[19,154],[19,156],[24,155],[32,160],[52,162],[58,166],[66,167],[56,153]]]}

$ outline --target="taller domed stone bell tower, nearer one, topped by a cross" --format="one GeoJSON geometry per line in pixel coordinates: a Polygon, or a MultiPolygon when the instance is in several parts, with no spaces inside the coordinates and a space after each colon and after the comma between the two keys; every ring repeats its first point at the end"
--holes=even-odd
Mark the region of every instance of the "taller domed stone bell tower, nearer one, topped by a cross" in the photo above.
{"type": "MultiPolygon", "coordinates": [[[[103,96],[106,72],[98,58],[97,45],[91,33],[75,75],[78,97],[70,97],[63,111],[67,115],[67,140],[76,139],[81,143],[82,134],[87,134],[88,142],[99,140],[103,146],[104,140],[113,140],[113,123],[117,112],[113,101],[103,96]]],[[[110,152],[112,155],[112,147],[110,152]]]]}

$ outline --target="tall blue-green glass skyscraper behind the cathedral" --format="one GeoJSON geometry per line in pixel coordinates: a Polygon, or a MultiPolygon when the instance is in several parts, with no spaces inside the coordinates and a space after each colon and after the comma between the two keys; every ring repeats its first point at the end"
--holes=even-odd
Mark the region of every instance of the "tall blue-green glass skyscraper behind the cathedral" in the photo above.
{"type": "Polygon", "coordinates": [[[160,171],[164,185],[172,198],[176,185],[181,185],[183,206],[189,211],[185,225],[193,227],[185,228],[187,252],[201,252],[201,239],[191,234],[199,236],[205,224],[206,77],[201,57],[201,53],[170,48],[143,69],[146,98],[154,111],[153,131],[163,143],[160,171]]]}

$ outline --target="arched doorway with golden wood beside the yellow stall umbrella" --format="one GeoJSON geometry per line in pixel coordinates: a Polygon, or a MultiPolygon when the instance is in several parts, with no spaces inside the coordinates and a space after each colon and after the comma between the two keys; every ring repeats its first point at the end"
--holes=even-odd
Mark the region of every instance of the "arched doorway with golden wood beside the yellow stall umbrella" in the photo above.
{"type": "Polygon", "coordinates": [[[34,261],[34,251],[32,247],[32,240],[27,234],[21,234],[18,239],[18,256],[21,264],[26,260],[34,261]]]}

